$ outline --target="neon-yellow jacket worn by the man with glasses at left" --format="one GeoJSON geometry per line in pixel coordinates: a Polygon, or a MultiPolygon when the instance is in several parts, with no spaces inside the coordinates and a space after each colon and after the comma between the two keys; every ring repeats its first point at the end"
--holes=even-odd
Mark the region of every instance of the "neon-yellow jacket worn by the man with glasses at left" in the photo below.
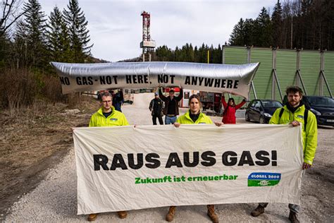
{"type": "Polygon", "coordinates": [[[103,115],[102,107],[95,112],[89,121],[89,127],[105,127],[105,126],[128,126],[128,120],[125,115],[116,111],[115,108],[111,107],[111,114],[108,117],[103,115]]]}

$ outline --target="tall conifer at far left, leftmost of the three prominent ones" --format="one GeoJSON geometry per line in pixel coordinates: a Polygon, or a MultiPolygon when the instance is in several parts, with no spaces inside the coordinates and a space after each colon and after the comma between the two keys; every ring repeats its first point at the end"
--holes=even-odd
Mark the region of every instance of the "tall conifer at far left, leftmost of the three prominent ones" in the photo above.
{"type": "Polygon", "coordinates": [[[25,30],[27,44],[27,61],[30,66],[43,68],[47,64],[46,19],[42,7],[37,0],[25,3],[25,30]]]}

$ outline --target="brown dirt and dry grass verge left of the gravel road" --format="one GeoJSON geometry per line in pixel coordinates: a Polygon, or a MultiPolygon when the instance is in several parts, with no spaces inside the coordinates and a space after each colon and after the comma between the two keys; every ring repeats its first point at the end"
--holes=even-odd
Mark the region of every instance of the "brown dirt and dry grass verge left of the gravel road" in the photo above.
{"type": "Polygon", "coordinates": [[[0,112],[0,219],[21,195],[35,188],[73,145],[72,127],[86,126],[96,100],[78,109],[36,102],[16,114],[0,112]]]}

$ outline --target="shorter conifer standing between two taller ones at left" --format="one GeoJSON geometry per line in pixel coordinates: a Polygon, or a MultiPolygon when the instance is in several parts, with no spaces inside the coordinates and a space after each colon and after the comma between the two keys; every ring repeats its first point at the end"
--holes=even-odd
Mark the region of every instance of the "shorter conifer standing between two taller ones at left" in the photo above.
{"type": "Polygon", "coordinates": [[[47,39],[51,61],[70,62],[68,29],[57,6],[49,16],[47,39]]]}

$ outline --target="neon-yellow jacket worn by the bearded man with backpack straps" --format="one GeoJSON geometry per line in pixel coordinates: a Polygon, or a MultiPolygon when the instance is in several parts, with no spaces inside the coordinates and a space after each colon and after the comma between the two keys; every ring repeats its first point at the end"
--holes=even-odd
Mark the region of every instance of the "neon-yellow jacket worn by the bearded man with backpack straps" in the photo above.
{"type": "Polygon", "coordinates": [[[318,141],[318,128],[316,124],[316,116],[308,111],[306,131],[304,130],[304,111],[305,106],[298,107],[295,113],[292,113],[285,105],[282,116],[280,117],[280,109],[276,109],[271,117],[270,124],[288,124],[292,121],[302,123],[302,137],[304,147],[304,162],[312,164],[314,155],[316,154],[316,144],[318,141]]]}

